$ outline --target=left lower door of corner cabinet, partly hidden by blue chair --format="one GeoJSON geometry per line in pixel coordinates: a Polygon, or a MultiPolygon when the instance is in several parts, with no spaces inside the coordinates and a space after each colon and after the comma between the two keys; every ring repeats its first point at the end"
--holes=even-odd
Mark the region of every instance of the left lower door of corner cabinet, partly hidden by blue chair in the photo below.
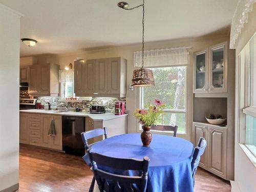
{"type": "MultiPolygon", "coordinates": [[[[203,137],[207,140],[207,127],[202,124],[194,123],[194,144],[197,146],[200,137],[203,137]]],[[[200,157],[200,167],[207,169],[207,147],[204,154],[200,157]]]]}

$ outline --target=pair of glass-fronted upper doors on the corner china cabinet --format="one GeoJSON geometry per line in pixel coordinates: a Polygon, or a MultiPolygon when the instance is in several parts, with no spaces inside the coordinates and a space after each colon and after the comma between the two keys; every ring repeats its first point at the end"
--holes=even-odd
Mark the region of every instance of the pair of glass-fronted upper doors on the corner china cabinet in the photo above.
{"type": "Polygon", "coordinates": [[[227,41],[195,52],[194,93],[227,93],[227,41]]]}

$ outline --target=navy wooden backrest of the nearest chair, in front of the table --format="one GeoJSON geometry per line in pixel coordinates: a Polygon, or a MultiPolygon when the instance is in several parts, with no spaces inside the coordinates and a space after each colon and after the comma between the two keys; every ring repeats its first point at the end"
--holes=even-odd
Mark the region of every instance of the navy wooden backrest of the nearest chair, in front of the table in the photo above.
{"type": "Polygon", "coordinates": [[[143,160],[138,159],[121,159],[113,158],[88,150],[92,161],[92,169],[94,177],[98,183],[99,190],[102,191],[146,191],[147,185],[147,169],[150,159],[144,157],[143,160]],[[98,166],[108,167],[115,170],[138,170],[142,174],[138,176],[124,176],[117,173],[109,173],[108,170],[99,169],[98,166]]]}

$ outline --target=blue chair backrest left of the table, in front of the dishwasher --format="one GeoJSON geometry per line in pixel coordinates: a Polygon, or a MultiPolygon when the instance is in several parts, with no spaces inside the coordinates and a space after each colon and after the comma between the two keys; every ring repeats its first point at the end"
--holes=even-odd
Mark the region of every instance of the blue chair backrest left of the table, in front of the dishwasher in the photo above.
{"type": "Polygon", "coordinates": [[[91,131],[81,133],[82,141],[84,143],[84,147],[86,148],[86,150],[89,149],[88,139],[98,137],[101,135],[104,135],[105,139],[108,138],[108,131],[106,127],[103,127],[103,129],[94,129],[91,131]]]}

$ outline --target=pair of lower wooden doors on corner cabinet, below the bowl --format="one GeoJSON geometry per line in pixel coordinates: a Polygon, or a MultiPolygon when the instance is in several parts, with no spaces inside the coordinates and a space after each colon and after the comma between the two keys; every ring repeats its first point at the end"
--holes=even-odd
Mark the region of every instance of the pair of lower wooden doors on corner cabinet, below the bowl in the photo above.
{"type": "Polygon", "coordinates": [[[207,123],[193,122],[194,142],[204,137],[207,147],[201,156],[199,166],[223,179],[226,179],[227,167],[227,128],[207,123]]]}

